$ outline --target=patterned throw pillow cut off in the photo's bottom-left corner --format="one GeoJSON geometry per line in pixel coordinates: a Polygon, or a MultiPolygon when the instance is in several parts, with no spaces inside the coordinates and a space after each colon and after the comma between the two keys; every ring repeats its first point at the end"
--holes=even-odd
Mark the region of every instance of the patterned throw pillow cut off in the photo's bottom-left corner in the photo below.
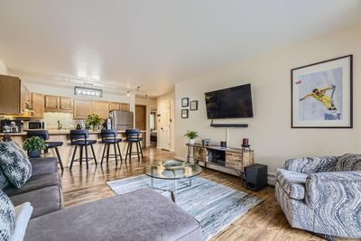
{"type": "Polygon", "coordinates": [[[0,190],[0,239],[10,240],[15,228],[15,209],[13,202],[0,190]]]}

